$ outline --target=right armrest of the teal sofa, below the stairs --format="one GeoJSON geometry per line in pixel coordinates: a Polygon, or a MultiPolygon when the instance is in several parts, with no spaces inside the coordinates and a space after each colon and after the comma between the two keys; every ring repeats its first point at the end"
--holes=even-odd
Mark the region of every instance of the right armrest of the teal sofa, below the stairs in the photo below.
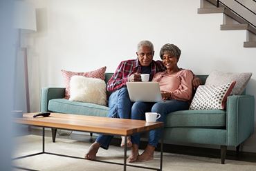
{"type": "Polygon", "coordinates": [[[230,96],[227,101],[227,145],[237,146],[254,131],[255,99],[251,95],[230,96]]]}

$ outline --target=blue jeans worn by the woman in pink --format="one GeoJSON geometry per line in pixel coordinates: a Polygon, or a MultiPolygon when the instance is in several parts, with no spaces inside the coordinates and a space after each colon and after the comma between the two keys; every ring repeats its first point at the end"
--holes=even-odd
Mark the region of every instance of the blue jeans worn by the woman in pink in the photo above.
{"type": "MultiPolygon", "coordinates": [[[[145,120],[145,112],[157,112],[161,117],[157,121],[165,122],[166,115],[177,110],[188,110],[189,103],[185,101],[178,101],[175,99],[160,101],[157,103],[149,103],[143,101],[136,101],[131,108],[131,119],[145,120]]],[[[149,145],[157,146],[158,140],[161,137],[163,128],[149,131],[149,145]]],[[[140,134],[131,135],[131,142],[139,145],[140,134]]]]}

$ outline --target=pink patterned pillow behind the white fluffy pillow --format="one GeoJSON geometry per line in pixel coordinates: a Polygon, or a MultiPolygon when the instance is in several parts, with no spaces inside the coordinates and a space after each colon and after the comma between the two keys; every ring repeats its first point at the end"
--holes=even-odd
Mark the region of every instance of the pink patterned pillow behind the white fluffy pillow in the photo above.
{"type": "Polygon", "coordinates": [[[65,84],[66,84],[66,90],[65,90],[65,99],[70,98],[70,81],[71,77],[74,75],[82,75],[84,77],[89,77],[89,78],[95,78],[95,79],[105,79],[105,72],[106,72],[106,66],[99,68],[98,70],[93,70],[90,72],[72,72],[72,71],[66,71],[66,70],[61,70],[62,75],[65,79],[65,84]]]}

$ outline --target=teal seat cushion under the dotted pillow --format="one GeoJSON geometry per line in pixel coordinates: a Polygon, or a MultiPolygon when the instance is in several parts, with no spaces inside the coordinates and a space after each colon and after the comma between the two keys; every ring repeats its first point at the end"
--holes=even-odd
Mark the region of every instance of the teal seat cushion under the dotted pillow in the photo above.
{"type": "Polygon", "coordinates": [[[165,127],[224,128],[225,110],[180,110],[167,114],[165,127]]]}

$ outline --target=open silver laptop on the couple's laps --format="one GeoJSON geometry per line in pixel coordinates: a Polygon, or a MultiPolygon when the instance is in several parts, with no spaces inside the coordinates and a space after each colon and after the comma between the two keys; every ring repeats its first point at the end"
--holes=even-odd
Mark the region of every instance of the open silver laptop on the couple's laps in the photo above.
{"type": "Polygon", "coordinates": [[[127,82],[131,101],[158,102],[162,100],[158,82],[127,82]]]}

